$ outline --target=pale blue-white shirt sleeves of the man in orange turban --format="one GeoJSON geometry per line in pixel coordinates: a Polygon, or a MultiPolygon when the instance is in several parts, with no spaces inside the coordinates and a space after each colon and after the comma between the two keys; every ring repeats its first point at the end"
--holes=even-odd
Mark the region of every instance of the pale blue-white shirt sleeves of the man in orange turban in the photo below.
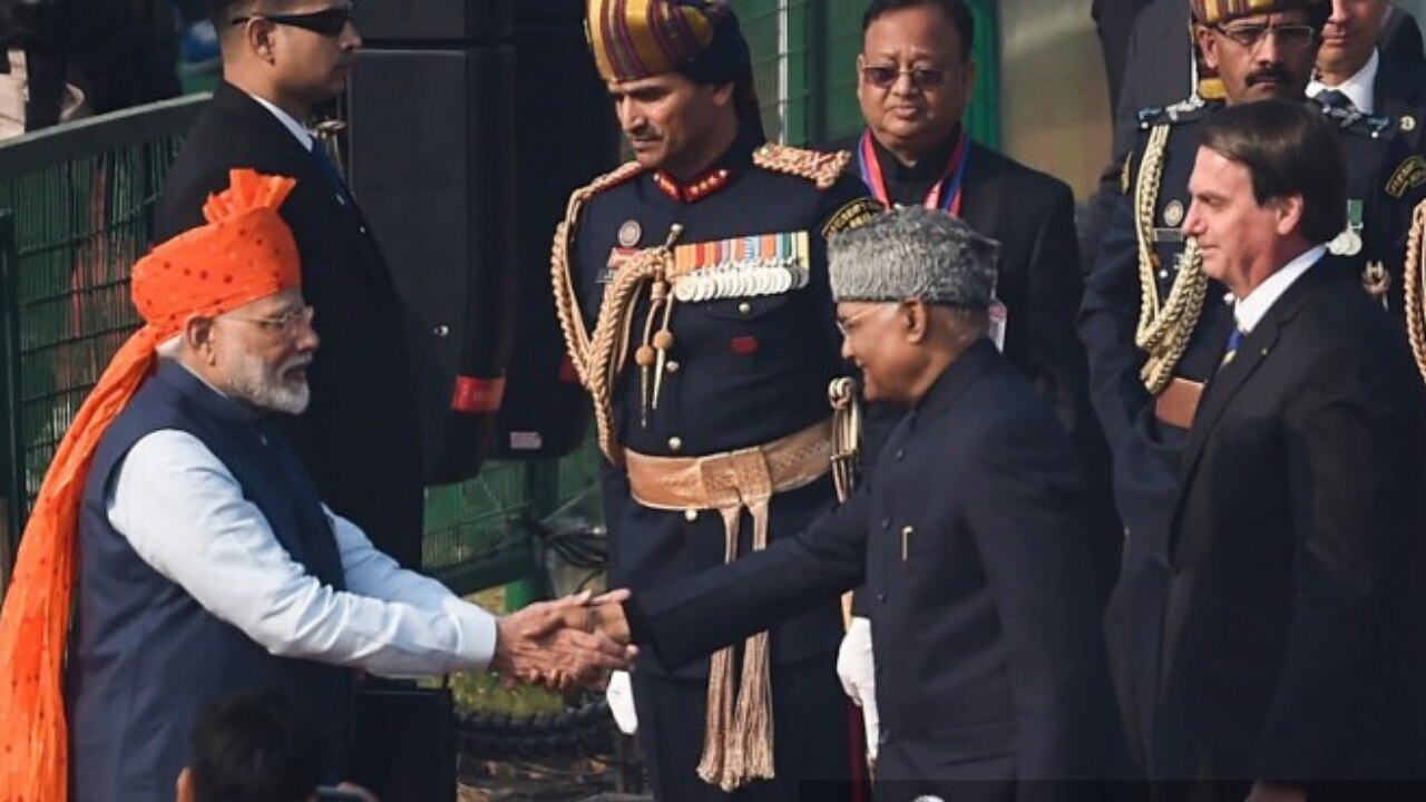
{"type": "Polygon", "coordinates": [[[274,655],[388,676],[486,668],[495,616],[402,569],[356,525],[322,509],[345,591],[292,559],[228,468],[191,434],[141,438],[106,494],[108,522],[144,562],[274,655]]]}

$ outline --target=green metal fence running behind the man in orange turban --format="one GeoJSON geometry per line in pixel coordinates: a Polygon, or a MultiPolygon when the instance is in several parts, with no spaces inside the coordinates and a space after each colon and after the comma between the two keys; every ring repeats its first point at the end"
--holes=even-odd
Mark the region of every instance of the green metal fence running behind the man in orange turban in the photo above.
{"type": "MultiPolygon", "coordinates": [[[[0,144],[0,495],[9,529],[0,539],[9,547],[86,394],[138,325],[128,268],[148,248],[154,203],[204,100],[0,144]]],[[[530,521],[595,481],[597,457],[586,447],[558,462],[489,464],[466,482],[429,488],[426,569],[459,592],[530,575],[538,565],[530,521]]],[[[0,548],[0,588],[6,552],[0,548]]]]}

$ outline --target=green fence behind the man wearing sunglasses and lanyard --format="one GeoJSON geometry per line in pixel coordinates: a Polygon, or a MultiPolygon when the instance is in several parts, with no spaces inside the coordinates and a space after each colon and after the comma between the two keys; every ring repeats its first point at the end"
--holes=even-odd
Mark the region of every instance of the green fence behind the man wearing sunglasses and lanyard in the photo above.
{"type": "MultiPolygon", "coordinates": [[[[1000,49],[994,0],[971,0],[975,16],[975,93],[965,127],[975,141],[1000,144],[1000,49]]],[[[817,144],[861,130],[856,60],[866,1],[733,0],[763,101],[767,136],[817,144]]]]}

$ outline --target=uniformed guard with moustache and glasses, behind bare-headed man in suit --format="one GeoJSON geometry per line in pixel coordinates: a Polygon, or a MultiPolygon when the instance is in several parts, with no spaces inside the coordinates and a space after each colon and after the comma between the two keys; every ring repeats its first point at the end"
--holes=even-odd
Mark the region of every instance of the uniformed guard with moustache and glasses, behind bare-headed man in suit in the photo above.
{"type": "MultiPolygon", "coordinates": [[[[1305,100],[1322,0],[1191,0],[1195,37],[1216,73],[1224,103],[1305,100]]],[[[1191,100],[1139,114],[1139,134],[1122,177],[1099,255],[1085,280],[1079,335],[1089,357],[1089,391],[1114,451],[1115,502],[1127,545],[1107,629],[1119,706],[1139,749],[1158,676],[1156,654],[1168,587],[1168,528],[1179,458],[1205,381],[1232,327],[1225,290],[1199,270],[1196,244],[1181,225],[1199,123],[1221,103],[1191,100]]],[[[1405,161],[1410,124],[1323,108],[1339,123],[1349,163],[1343,230],[1333,253],[1352,257],[1363,290],[1390,304],[1382,273],[1400,271],[1406,213],[1386,191],[1405,161]],[[1397,265],[1397,267],[1392,267],[1397,265]]]]}

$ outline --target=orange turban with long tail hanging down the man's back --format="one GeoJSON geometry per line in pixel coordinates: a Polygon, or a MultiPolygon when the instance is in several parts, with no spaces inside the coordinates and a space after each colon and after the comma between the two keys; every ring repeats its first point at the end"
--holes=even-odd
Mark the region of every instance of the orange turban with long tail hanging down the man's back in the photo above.
{"type": "Polygon", "coordinates": [[[277,210],[295,180],[230,173],[208,198],[207,225],[138,260],[130,291],[145,325],[114,354],[84,400],[40,485],[0,608],[0,802],[68,798],[60,691],[74,591],[80,501],[94,450],[153,372],[154,350],[193,315],[217,315],[301,285],[292,233],[277,210]]]}

